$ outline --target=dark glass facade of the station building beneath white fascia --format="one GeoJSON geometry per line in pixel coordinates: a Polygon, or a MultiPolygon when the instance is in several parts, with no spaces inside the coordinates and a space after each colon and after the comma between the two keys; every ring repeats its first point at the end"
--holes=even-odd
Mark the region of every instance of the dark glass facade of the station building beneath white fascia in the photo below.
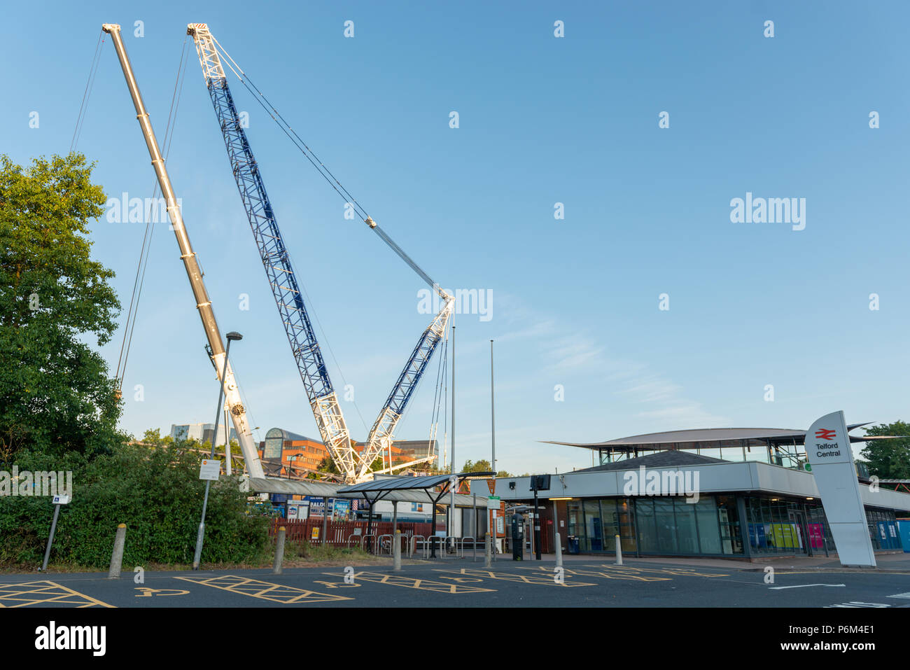
{"type": "MultiPolygon", "coordinates": [[[[705,495],[585,498],[566,502],[568,535],[581,553],[745,556],[823,554],[834,538],[818,500],[771,496],[705,495]],[[742,518],[741,518],[742,517],[742,518]],[[748,543],[748,551],[743,546],[748,543]]],[[[893,510],[866,508],[875,551],[900,550],[893,510]]]]}

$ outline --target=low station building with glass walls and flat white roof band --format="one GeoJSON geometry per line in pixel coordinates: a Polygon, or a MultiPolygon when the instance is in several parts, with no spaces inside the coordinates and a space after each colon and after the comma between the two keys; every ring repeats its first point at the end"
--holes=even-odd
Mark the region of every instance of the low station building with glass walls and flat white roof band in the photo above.
{"type": "MultiPolygon", "coordinates": [[[[581,553],[613,553],[619,535],[622,551],[640,556],[833,555],[804,439],[805,431],[734,428],[550,442],[591,450],[599,464],[553,474],[538,493],[541,550],[554,550],[558,532],[563,551],[581,553]]],[[[910,494],[870,486],[856,465],[875,551],[910,551],[895,522],[910,516],[910,494]]],[[[531,477],[496,482],[507,510],[531,505],[530,489],[531,477]]]]}

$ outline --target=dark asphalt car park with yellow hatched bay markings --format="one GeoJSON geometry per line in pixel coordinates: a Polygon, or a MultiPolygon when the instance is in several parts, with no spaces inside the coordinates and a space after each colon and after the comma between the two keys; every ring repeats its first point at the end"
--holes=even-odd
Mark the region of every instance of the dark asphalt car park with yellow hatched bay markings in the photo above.
{"type": "MultiPolygon", "coordinates": [[[[887,559],[905,564],[904,557],[887,559]]],[[[134,574],[0,575],[0,607],[910,607],[910,574],[844,571],[794,559],[602,556],[511,561],[447,558],[404,565],[134,574]],[[767,570],[770,566],[773,570],[767,570]],[[812,570],[809,570],[812,568],[812,570]],[[817,572],[823,568],[824,572],[817,572]],[[141,580],[140,580],[141,576],[141,580]]],[[[830,559],[825,563],[831,563],[830,559]]],[[[882,561],[885,563],[885,561],[882,561]]],[[[896,568],[895,568],[896,569],[896,568]]]]}

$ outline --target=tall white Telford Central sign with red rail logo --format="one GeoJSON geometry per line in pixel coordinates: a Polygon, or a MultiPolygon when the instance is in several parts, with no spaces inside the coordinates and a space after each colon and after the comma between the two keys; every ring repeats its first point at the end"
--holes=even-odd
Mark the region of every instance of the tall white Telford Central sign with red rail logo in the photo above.
{"type": "Polygon", "coordinates": [[[822,496],[841,564],[875,567],[843,411],[834,411],[812,424],[805,433],[805,453],[812,462],[807,470],[813,473],[822,496]]]}

